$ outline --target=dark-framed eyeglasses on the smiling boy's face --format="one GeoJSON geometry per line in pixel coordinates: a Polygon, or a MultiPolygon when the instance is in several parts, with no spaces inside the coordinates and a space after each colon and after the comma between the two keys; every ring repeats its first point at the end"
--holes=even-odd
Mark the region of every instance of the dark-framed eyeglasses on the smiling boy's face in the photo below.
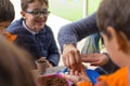
{"type": "Polygon", "coordinates": [[[50,11],[34,10],[34,11],[26,11],[26,13],[34,15],[34,17],[40,17],[40,15],[48,16],[50,14],[50,11]]]}

